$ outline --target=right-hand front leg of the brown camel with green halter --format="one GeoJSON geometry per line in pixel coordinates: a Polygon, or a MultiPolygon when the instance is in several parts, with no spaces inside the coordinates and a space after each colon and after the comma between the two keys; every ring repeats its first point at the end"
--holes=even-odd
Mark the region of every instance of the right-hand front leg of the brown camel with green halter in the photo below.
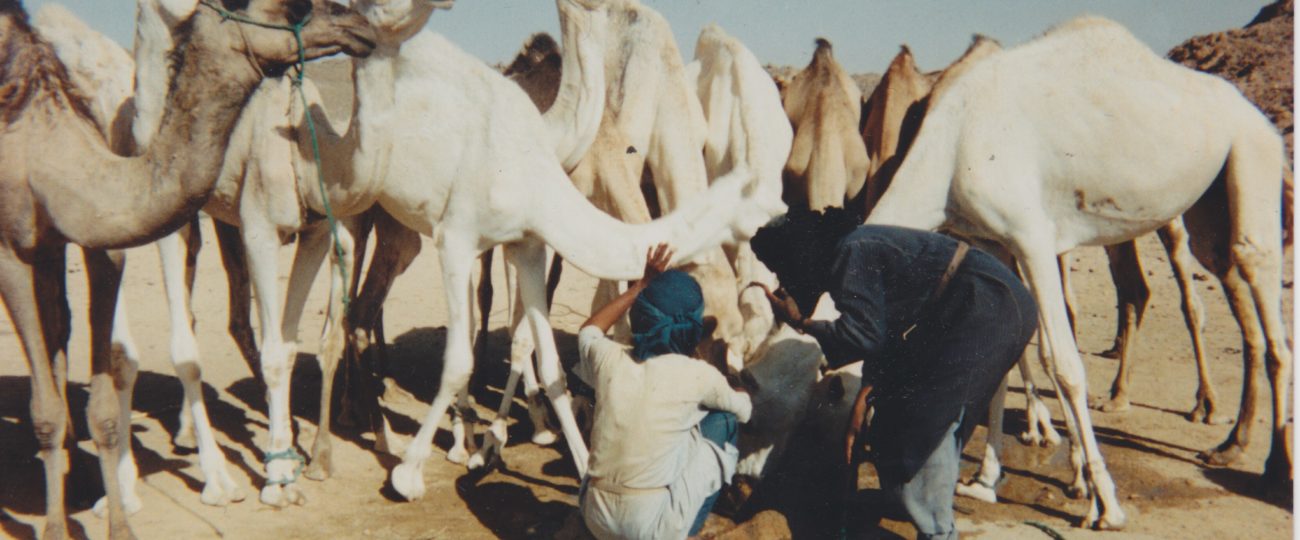
{"type": "MultiPolygon", "coordinates": [[[[62,251],[62,246],[58,247],[62,251]]],[[[99,453],[100,474],[108,498],[108,531],[113,539],[134,539],[126,522],[122,501],[122,481],[118,479],[122,459],[134,459],[131,445],[131,390],[135,386],[135,366],[127,357],[113,354],[113,315],[117,311],[117,290],[122,281],[125,259],[110,258],[101,250],[83,250],[86,277],[90,281],[90,341],[91,380],[90,402],[86,403],[86,423],[99,453]],[[114,260],[116,259],[116,260],[114,260]]],[[[61,258],[60,258],[61,259],[61,258]]],[[[61,267],[62,260],[58,265],[61,267]]],[[[62,268],[51,268],[62,277],[62,268]]],[[[127,467],[134,470],[134,467],[127,467]]],[[[136,501],[138,504],[138,501],[136,501]]]]}

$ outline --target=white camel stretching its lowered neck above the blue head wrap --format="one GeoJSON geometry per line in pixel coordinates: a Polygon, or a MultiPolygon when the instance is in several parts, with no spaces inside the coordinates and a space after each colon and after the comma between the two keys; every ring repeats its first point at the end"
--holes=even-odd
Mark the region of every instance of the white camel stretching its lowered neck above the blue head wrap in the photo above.
{"type": "MultiPolygon", "coordinates": [[[[446,39],[420,30],[433,10],[428,3],[413,4],[399,20],[384,17],[402,5],[411,4],[358,5],[389,36],[381,38],[376,55],[358,62],[359,85],[374,85],[382,81],[380,74],[389,81],[386,96],[358,94],[360,138],[411,157],[400,168],[389,168],[376,186],[377,200],[402,224],[436,236],[450,321],[442,384],[403,463],[391,472],[393,485],[407,498],[424,493],[422,467],[437,423],[465,388],[472,367],[472,267],[480,252],[499,243],[507,246],[507,262],[519,271],[525,316],[540,351],[538,372],[582,472],[586,449],[567,414],[569,397],[546,320],[542,242],[589,273],[627,280],[641,272],[654,243],[672,243],[681,262],[720,242],[748,238],[768,213],[741,198],[748,178],[736,176],[650,225],[629,226],[604,216],[572,187],[546,124],[524,92],[446,39]]],[[[369,170],[372,163],[363,161],[368,160],[354,160],[354,169],[369,170]]],[[[347,193],[338,195],[343,199],[347,193]]]]}

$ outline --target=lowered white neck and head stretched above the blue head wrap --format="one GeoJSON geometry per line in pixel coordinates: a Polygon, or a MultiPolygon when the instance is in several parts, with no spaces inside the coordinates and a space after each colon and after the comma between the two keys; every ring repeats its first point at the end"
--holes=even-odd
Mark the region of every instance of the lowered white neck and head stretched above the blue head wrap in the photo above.
{"type": "Polygon", "coordinates": [[[677,209],[644,225],[629,225],[601,212],[563,176],[540,186],[529,223],[566,262],[602,280],[634,280],[645,268],[646,252],[658,243],[673,249],[673,265],[723,243],[748,241],[759,226],[785,211],[742,194],[753,173],[737,168],[708,190],[689,198],[677,209]]]}

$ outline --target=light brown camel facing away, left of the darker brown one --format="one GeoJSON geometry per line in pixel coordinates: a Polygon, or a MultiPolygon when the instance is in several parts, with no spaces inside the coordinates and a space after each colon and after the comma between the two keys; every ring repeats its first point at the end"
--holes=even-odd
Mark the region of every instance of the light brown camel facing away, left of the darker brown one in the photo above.
{"type": "Polygon", "coordinates": [[[835,61],[831,42],[818,38],[812,61],[784,86],[781,101],[794,126],[786,204],[822,209],[858,198],[870,167],[858,134],[862,91],[835,61]]]}

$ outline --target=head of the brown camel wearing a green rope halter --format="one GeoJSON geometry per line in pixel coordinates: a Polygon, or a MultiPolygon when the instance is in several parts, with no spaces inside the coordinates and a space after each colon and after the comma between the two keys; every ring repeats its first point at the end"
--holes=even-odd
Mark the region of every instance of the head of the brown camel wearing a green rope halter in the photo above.
{"type": "Polygon", "coordinates": [[[374,48],[374,30],[359,13],[330,0],[200,0],[177,30],[177,52],[203,36],[205,49],[229,49],[257,69],[280,73],[299,61],[291,26],[302,25],[307,60],[344,52],[365,56],[374,48]]]}

